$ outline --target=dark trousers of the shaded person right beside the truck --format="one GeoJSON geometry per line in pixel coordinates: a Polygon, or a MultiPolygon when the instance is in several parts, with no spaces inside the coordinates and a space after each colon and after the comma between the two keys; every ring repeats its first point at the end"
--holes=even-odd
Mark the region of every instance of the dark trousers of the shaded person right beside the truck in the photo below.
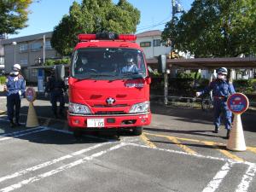
{"type": "Polygon", "coordinates": [[[53,113],[57,114],[57,102],[60,102],[59,113],[63,113],[65,101],[62,92],[51,92],[50,93],[50,102],[53,113]]]}

